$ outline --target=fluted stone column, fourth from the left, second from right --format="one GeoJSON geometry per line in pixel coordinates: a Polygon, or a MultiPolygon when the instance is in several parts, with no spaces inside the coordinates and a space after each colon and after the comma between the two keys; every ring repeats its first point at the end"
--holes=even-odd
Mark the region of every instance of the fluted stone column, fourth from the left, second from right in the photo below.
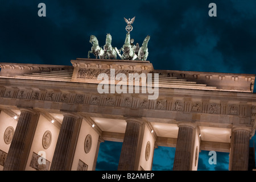
{"type": "Polygon", "coordinates": [[[193,123],[180,122],[177,126],[179,127],[179,133],[173,170],[189,171],[192,169],[196,125],[193,123]]]}

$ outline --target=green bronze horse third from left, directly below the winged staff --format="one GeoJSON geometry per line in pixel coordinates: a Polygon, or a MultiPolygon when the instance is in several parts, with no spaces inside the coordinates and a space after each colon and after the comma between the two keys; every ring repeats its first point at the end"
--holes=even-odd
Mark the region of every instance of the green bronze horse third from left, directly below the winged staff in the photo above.
{"type": "Polygon", "coordinates": [[[137,59],[137,55],[134,53],[133,47],[131,47],[130,43],[130,32],[127,32],[126,38],[125,38],[125,44],[123,44],[123,47],[118,51],[118,49],[115,47],[115,51],[117,51],[118,56],[122,60],[135,60],[137,59]],[[123,54],[121,55],[121,51],[123,54]]]}

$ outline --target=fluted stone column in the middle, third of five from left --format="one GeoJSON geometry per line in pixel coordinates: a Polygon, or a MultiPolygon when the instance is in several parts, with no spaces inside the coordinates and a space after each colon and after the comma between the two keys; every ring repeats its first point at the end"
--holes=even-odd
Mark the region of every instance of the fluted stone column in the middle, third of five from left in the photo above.
{"type": "Polygon", "coordinates": [[[143,121],[138,118],[127,118],[125,137],[118,164],[118,171],[136,171],[139,158],[139,139],[141,138],[143,121]]]}

